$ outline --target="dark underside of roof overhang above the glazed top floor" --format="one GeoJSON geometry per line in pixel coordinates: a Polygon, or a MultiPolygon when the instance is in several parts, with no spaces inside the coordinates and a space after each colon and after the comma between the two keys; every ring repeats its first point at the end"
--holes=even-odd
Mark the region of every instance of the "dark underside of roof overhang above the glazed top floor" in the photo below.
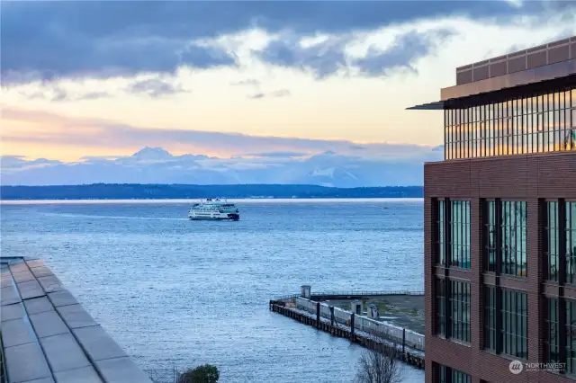
{"type": "Polygon", "coordinates": [[[485,105],[491,102],[502,102],[515,97],[519,98],[531,94],[559,92],[563,89],[572,88],[575,85],[576,74],[542,80],[527,85],[510,86],[492,92],[483,92],[480,94],[472,94],[448,100],[423,103],[421,105],[410,106],[410,108],[406,109],[411,111],[438,111],[443,109],[468,108],[471,106],[485,105]]]}

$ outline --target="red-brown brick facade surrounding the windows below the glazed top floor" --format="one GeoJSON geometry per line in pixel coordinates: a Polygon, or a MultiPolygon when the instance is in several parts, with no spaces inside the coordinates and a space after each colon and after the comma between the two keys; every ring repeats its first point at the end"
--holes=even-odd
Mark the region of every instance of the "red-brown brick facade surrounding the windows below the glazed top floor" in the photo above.
{"type": "MultiPolygon", "coordinates": [[[[484,350],[483,286],[500,285],[527,292],[529,362],[545,362],[544,310],[546,291],[576,298],[576,287],[558,287],[544,281],[543,217],[545,199],[576,200],[576,152],[471,158],[428,163],[424,167],[425,289],[426,289],[426,381],[435,382],[435,363],[461,370],[473,382],[574,382],[550,372],[509,372],[517,358],[484,350]],[[471,201],[471,268],[446,269],[435,264],[437,198],[471,201]],[[527,201],[527,278],[494,276],[483,272],[482,199],[527,201]],[[463,345],[434,335],[437,275],[471,284],[471,344],[463,345]]],[[[561,313],[562,315],[563,313],[561,313]]]]}

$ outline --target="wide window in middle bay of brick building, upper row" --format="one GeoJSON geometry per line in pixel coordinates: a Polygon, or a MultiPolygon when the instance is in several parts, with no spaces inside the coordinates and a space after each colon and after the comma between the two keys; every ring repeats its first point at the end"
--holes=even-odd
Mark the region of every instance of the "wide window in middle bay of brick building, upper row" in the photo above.
{"type": "Polygon", "coordinates": [[[502,202],[502,273],[527,276],[527,203],[502,202]]]}

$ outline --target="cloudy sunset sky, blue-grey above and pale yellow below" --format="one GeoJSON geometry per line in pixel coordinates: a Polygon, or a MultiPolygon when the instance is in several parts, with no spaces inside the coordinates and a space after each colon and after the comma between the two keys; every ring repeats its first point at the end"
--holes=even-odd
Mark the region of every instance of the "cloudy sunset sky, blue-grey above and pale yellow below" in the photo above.
{"type": "Polygon", "coordinates": [[[443,116],[405,109],[455,67],[576,35],[576,3],[552,1],[0,6],[1,149],[23,161],[420,156],[443,116]]]}

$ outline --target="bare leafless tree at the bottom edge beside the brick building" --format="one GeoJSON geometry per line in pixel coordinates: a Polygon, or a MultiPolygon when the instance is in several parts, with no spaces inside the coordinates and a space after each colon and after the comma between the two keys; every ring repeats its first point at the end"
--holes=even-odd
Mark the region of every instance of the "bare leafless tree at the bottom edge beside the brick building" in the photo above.
{"type": "Polygon", "coordinates": [[[399,383],[403,366],[396,359],[396,344],[383,352],[366,350],[356,365],[355,383],[399,383]]]}

